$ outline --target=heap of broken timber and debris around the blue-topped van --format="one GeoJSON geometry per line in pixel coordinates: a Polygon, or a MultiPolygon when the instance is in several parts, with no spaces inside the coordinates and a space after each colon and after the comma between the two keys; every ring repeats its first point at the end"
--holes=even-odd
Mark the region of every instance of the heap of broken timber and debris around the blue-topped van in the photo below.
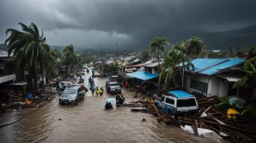
{"type": "Polygon", "coordinates": [[[255,142],[256,121],[248,116],[229,115],[213,105],[219,103],[214,96],[199,99],[199,113],[196,115],[171,116],[161,112],[153,100],[140,99],[137,102],[124,104],[132,108],[132,111],[151,113],[158,116],[159,122],[174,124],[182,130],[199,136],[216,137],[230,142],[255,142]]]}

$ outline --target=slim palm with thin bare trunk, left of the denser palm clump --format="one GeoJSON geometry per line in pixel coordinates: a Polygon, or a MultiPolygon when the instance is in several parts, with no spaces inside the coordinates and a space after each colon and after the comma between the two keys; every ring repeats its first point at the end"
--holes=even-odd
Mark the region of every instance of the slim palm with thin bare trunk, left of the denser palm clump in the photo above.
{"type": "Polygon", "coordinates": [[[160,72],[160,59],[161,59],[161,52],[164,52],[164,45],[170,45],[170,43],[165,38],[154,37],[153,41],[150,42],[149,50],[150,53],[157,53],[158,61],[159,61],[159,69],[158,73],[160,72]]]}

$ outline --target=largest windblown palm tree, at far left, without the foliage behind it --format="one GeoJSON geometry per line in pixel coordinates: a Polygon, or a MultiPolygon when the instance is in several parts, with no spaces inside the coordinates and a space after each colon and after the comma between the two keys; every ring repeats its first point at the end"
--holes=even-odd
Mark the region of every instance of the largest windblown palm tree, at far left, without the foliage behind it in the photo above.
{"type": "Polygon", "coordinates": [[[19,23],[22,31],[7,29],[6,34],[10,36],[5,40],[7,44],[8,54],[13,52],[13,56],[17,59],[16,76],[17,79],[24,79],[24,70],[28,68],[28,86],[27,90],[33,90],[37,86],[37,67],[42,65],[41,58],[45,53],[46,39],[39,35],[36,24],[25,25],[19,23]]]}

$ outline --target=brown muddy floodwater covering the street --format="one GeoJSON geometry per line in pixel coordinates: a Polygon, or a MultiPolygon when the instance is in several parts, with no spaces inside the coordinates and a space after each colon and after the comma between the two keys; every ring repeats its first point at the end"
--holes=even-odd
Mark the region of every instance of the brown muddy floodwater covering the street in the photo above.
{"type": "MultiPolygon", "coordinates": [[[[90,75],[83,77],[87,87],[90,75]]],[[[106,78],[95,78],[98,87],[105,87],[106,78]]],[[[125,102],[137,101],[134,93],[122,89],[125,102]]],[[[89,91],[84,100],[68,107],[59,105],[59,96],[20,122],[0,128],[0,142],[223,142],[193,136],[179,128],[159,123],[156,116],[131,112],[131,107],[104,110],[106,93],[92,96],[89,91]],[[59,120],[61,119],[61,120],[59,120]],[[146,122],[141,122],[146,119],[146,122]]],[[[20,119],[35,107],[1,114],[0,124],[20,119]]]]}

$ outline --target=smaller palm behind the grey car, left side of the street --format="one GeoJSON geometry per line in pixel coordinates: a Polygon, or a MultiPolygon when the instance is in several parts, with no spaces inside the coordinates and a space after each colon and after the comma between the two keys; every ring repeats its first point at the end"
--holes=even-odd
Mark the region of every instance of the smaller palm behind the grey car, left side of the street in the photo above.
{"type": "Polygon", "coordinates": [[[65,76],[68,76],[71,70],[71,67],[74,66],[77,60],[77,53],[74,51],[72,44],[69,44],[63,49],[63,59],[65,63],[65,76]]]}

